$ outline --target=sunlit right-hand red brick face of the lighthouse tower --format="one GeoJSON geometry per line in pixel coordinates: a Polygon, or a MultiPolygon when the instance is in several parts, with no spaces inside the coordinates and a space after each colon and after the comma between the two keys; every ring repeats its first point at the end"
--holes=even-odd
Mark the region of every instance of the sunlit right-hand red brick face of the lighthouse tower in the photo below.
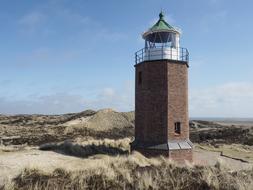
{"type": "Polygon", "coordinates": [[[168,72],[168,138],[189,139],[188,68],[185,64],[167,63],[168,72]],[[175,136],[174,124],[181,123],[181,134],[175,136]]]}

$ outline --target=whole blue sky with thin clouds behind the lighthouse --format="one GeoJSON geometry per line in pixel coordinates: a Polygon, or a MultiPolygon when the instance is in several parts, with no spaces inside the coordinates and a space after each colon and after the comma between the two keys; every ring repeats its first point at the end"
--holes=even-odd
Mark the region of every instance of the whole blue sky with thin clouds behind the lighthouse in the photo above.
{"type": "Polygon", "coordinates": [[[134,109],[134,52],[158,18],[190,52],[191,117],[253,117],[250,0],[1,0],[0,113],[134,109]]]}

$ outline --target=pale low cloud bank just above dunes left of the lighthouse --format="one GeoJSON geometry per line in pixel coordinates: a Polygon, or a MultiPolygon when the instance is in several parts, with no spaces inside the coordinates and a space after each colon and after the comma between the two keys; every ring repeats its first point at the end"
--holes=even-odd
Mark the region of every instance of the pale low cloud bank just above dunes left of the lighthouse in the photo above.
{"type": "Polygon", "coordinates": [[[2,114],[59,114],[80,112],[86,109],[113,108],[118,111],[134,109],[133,83],[127,82],[122,89],[104,88],[91,97],[58,92],[48,95],[30,95],[26,99],[13,100],[0,97],[2,114]]]}

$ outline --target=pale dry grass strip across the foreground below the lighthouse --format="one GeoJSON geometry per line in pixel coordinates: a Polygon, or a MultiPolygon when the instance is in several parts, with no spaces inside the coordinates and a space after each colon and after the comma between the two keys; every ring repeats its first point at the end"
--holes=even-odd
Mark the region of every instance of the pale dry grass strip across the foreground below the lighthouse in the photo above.
{"type": "Polygon", "coordinates": [[[147,159],[139,153],[107,157],[101,165],[79,171],[56,169],[45,173],[25,169],[14,180],[11,189],[229,189],[253,187],[253,171],[230,172],[215,167],[184,166],[162,157],[147,159]]]}

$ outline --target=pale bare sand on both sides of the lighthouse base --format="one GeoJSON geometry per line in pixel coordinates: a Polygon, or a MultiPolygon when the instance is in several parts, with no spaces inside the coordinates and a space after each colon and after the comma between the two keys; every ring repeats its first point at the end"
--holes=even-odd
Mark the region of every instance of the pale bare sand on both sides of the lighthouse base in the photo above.
{"type": "MultiPolygon", "coordinates": [[[[66,170],[80,170],[92,167],[91,164],[104,164],[105,155],[91,156],[90,158],[78,158],[54,151],[41,151],[38,148],[0,153],[0,184],[5,184],[18,175],[24,168],[38,168],[45,172],[52,172],[56,168],[66,170]]],[[[222,157],[218,152],[210,152],[201,149],[194,150],[194,164],[215,165],[221,162],[227,168],[233,170],[251,169],[251,163],[243,163],[230,158],[222,157]]]]}

